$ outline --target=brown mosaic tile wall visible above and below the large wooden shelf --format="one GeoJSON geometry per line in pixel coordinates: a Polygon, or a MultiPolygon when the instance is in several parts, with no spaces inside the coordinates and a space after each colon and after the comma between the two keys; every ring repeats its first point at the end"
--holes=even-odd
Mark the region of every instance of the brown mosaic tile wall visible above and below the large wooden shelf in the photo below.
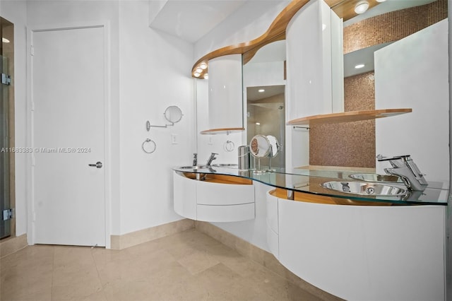
{"type": "MultiPolygon", "coordinates": [[[[385,13],[344,28],[344,53],[382,42],[399,40],[447,18],[447,1],[385,13]]],[[[374,110],[374,73],[344,80],[345,111],[374,110]]],[[[309,164],[375,167],[375,122],[349,122],[311,126],[309,164]]]]}

